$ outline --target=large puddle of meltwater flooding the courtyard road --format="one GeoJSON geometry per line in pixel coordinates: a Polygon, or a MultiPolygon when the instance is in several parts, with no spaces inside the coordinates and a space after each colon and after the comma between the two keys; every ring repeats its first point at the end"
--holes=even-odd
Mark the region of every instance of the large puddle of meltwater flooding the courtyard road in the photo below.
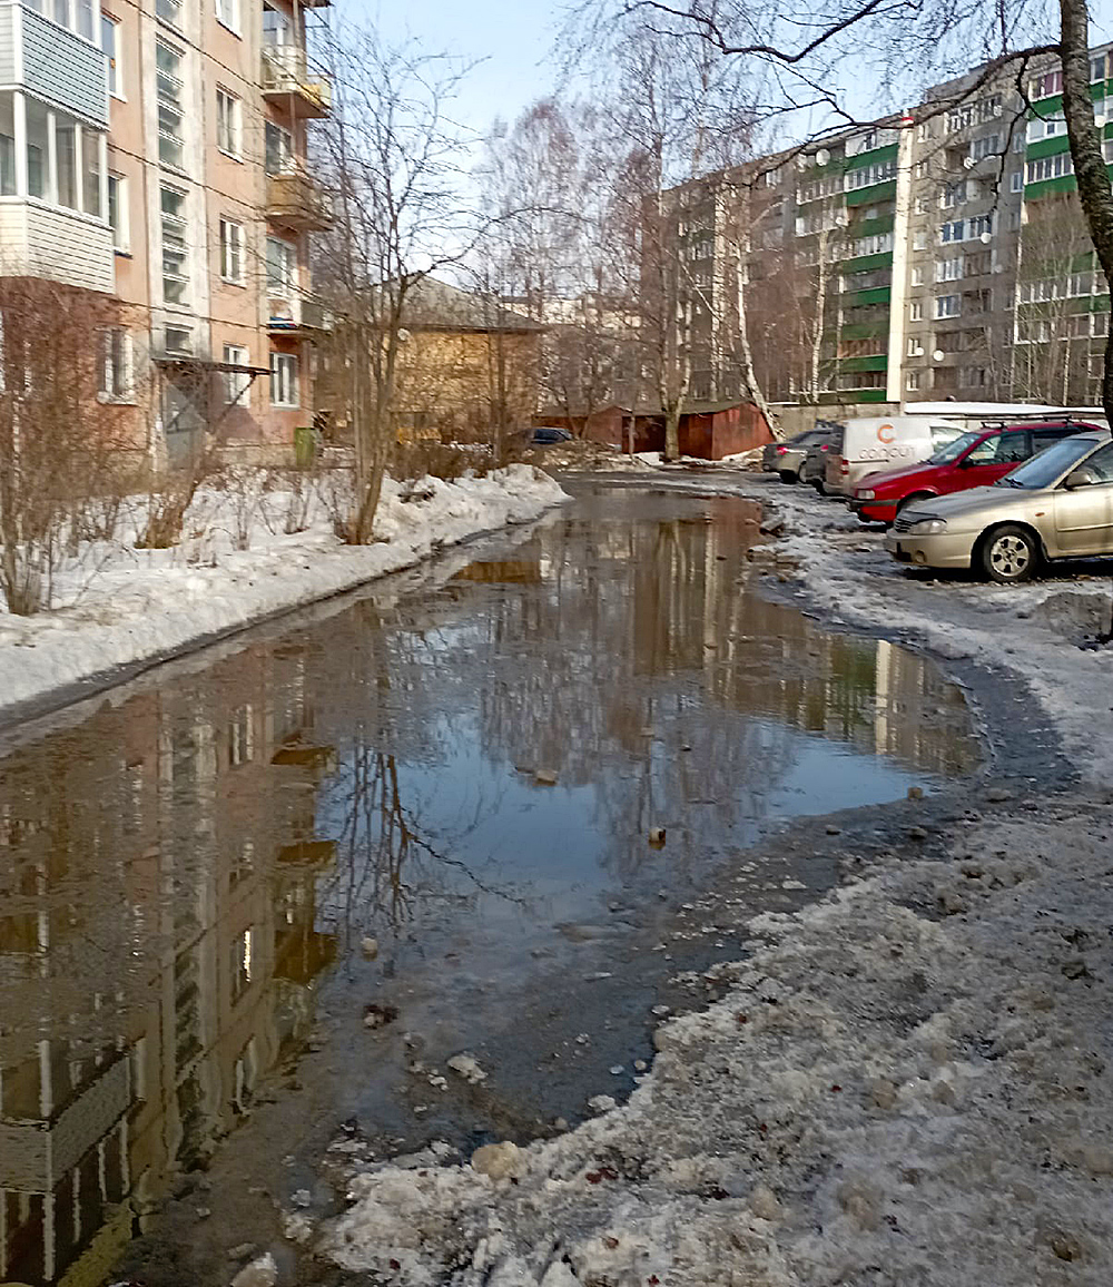
{"type": "Polygon", "coordinates": [[[961,694],[749,592],[755,539],[748,502],[585,489],[0,762],[0,1281],[104,1281],[246,1117],[225,1169],[279,1198],[345,1121],[574,1120],[632,1085],[664,916],[785,819],[968,772],[961,694]]]}

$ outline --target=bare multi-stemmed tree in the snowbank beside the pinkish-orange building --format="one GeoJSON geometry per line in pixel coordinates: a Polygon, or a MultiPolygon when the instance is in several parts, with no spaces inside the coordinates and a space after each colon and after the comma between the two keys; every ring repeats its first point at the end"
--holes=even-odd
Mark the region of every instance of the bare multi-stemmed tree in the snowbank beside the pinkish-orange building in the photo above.
{"type": "Polygon", "coordinates": [[[328,58],[336,107],[320,151],[336,221],[320,241],[317,274],[335,326],[322,382],[351,426],[356,497],[346,535],[365,543],[396,440],[410,296],[436,269],[459,263],[475,237],[461,199],[471,140],[448,115],[467,68],[355,27],[333,35],[328,58]]]}

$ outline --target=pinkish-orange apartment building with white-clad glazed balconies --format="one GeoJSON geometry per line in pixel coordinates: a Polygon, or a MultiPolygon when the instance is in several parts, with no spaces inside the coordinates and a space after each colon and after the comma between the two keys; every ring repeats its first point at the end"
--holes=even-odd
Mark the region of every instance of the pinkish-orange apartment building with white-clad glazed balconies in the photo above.
{"type": "Polygon", "coordinates": [[[153,465],[205,423],[274,454],[311,421],[327,4],[0,0],[0,274],[117,302],[99,399],[153,465]]]}

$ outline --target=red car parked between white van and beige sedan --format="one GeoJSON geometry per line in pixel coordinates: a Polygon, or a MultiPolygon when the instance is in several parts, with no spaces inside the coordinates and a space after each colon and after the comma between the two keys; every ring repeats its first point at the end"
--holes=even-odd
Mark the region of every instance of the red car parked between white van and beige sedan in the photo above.
{"type": "Polygon", "coordinates": [[[869,474],[854,488],[851,508],[862,523],[892,523],[912,501],[987,486],[1060,438],[1104,427],[1059,420],[971,429],[919,465],[869,474]]]}

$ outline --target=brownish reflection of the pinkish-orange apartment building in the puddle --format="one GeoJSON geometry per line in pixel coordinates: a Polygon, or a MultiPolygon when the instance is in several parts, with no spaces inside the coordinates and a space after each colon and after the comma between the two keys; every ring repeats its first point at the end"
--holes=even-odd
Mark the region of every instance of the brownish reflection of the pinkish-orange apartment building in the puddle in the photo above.
{"type": "Polygon", "coordinates": [[[302,658],[248,650],[171,691],[5,764],[0,1281],[103,1281],[305,1028],[335,955],[314,837],[332,753],[302,658]]]}

